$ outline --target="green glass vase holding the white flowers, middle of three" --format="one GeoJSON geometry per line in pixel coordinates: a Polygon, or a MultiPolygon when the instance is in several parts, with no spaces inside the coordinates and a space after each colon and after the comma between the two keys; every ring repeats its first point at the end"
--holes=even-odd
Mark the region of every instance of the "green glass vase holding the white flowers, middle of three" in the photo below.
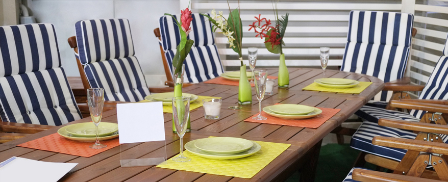
{"type": "Polygon", "coordinates": [[[238,103],[240,105],[250,105],[252,103],[252,87],[247,80],[246,65],[240,67],[238,103]]]}

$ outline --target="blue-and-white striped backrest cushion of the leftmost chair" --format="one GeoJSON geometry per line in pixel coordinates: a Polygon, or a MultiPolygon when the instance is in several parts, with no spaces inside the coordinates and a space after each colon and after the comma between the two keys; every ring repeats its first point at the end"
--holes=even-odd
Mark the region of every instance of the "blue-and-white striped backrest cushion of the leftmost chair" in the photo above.
{"type": "Polygon", "coordinates": [[[61,125],[81,119],[53,24],[0,27],[0,116],[3,121],[61,125]]]}

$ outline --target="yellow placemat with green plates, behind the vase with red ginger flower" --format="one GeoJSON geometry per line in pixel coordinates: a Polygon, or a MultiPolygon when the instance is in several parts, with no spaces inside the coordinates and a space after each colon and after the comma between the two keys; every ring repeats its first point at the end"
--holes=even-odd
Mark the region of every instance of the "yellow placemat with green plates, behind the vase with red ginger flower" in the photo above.
{"type": "MultiPolygon", "coordinates": [[[[220,99],[221,97],[211,97],[211,96],[202,96],[202,95],[194,95],[189,93],[182,93],[182,96],[190,98],[190,111],[200,108],[203,106],[204,99],[215,98],[220,99]]],[[[145,97],[144,100],[140,102],[162,102],[163,112],[164,113],[172,113],[172,102],[171,98],[174,97],[173,92],[164,92],[164,93],[155,93],[145,97]]]]}

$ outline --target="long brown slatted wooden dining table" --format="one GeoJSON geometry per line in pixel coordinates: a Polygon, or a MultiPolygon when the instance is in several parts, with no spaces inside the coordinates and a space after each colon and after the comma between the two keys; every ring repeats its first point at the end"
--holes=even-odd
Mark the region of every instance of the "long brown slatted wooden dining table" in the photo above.
{"type": "MultiPolygon", "coordinates": [[[[89,158],[17,146],[54,134],[62,127],[60,126],[1,144],[0,161],[16,156],[45,162],[79,163],[60,181],[283,181],[297,170],[301,171],[303,181],[313,181],[322,138],[380,92],[384,82],[377,77],[364,74],[326,70],[326,77],[353,79],[372,82],[372,84],[360,94],[306,91],[302,89],[313,83],[315,79],[321,78],[322,70],[311,68],[289,68],[288,70],[289,87],[276,86],[272,95],[265,95],[263,98],[263,107],[275,103],[291,103],[341,110],[318,128],[246,122],[243,120],[258,113],[258,100],[255,94],[251,105],[242,106],[240,110],[231,110],[227,108],[236,106],[238,102],[237,86],[199,83],[183,88],[183,92],[186,93],[222,98],[218,120],[205,119],[202,107],[190,112],[191,132],[184,136],[184,144],[210,136],[291,144],[287,150],[250,179],[164,169],[156,166],[120,167],[120,151],[132,152],[140,158],[160,155],[161,152],[165,152],[165,149],[168,158],[179,153],[180,141],[178,135],[172,133],[171,113],[164,113],[166,142],[135,143],[121,148],[118,146],[89,158]],[[165,143],[166,147],[164,147],[165,143]],[[142,145],[146,146],[145,150],[139,149],[142,145]]],[[[268,69],[269,75],[277,76],[277,73],[278,69],[268,69]]],[[[90,121],[90,118],[84,118],[68,124],[90,121]]],[[[116,123],[116,110],[105,112],[102,121],[116,123]]],[[[26,174],[26,171],[23,171],[23,175],[26,174]]]]}

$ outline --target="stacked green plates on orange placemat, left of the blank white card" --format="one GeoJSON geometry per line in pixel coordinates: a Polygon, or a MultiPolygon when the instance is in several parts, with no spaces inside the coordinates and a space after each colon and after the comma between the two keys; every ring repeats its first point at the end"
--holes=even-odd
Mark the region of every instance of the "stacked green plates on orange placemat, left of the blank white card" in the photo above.
{"type": "MultiPolygon", "coordinates": [[[[118,124],[101,122],[98,125],[99,140],[118,137],[118,124]]],[[[58,134],[64,138],[77,141],[96,141],[95,124],[93,122],[71,124],[59,128],[58,134]]]]}

